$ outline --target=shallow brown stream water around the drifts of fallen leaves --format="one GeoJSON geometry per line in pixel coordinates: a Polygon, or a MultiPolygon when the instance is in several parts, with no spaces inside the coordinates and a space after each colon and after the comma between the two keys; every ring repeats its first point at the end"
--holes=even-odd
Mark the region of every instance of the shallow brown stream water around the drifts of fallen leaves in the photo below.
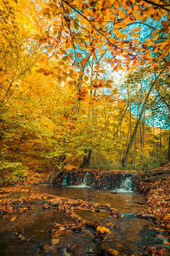
{"type": "MultiPolygon", "coordinates": [[[[49,193],[71,199],[82,199],[94,203],[108,203],[119,211],[119,219],[110,219],[109,211],[89,212],[77,210],[76,214],[90,222],[98,221],[101,225],[112,222],[117,228],[110,229],[111,234],[104,242],[96,243],[91,238],[91,232],[86,236],[81,234],[67,234],[59,236],[57,245],[43,245],[49,237],[49,230],[53,228],[53,222],[62,225],[73,223],[64,217],[64,211],[56,209],[42,210],[42,204],[31,204],[31,210],[23,213],[15,221],[0,219],[0,255],[6,256],[84,256],[93,255],[87,252],[97,252],[101,248],[111,248],[118,251],[119,256],[132,255],[140,252],[144,246],[163,245],[160,230],[152,220],[139,219],[134,213],[144,210],[145,198],[130,190],[130,181],[122,181],[120,189],[104,191],[81,186],[39,186],[29,187],[29,192],[13,193],[8,198],[20,198],[35,193],[49,193]],[[126,192],[126,193],[120,193],[126,192]],[[15,237],[14,232],[23,231],[25,240],[15,237]],[[159,235],[159,236],[158,236],[159,235]],[[159,238],[157,238],[157,236],[159,238]]],[[[9,214],[10,215],[10,214],[9,214]]],[[[11,216],[15,213],[11,213],[11,216]]],[[[108,226],[109,228],[109,226],[108,226]]]]}

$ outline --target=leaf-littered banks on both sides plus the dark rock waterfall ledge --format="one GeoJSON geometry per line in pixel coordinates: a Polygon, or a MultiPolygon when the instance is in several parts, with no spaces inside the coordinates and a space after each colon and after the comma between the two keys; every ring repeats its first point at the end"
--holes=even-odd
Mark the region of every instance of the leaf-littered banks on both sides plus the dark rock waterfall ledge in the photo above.
{"type": "MultiPolygon", "coordinates": [[[[120,173],[124,173],[125,175],[127,173],[135,173],[135,171],[76,170],[73,168],[71,171],[65,170],[61,175],[59,175],[56,179],[56,183],[61,184],[66,173],[68,173],[68,180],[71,184],[74,180],[73,174],[75,176],[77,175],[76,177],[79,182],[83,182],[84,176],[82,173],[85,175],[90,171],[94,174],[92,182],[94,183],[94,181],[97,180],[97,184],[104,184],[104,186],[101,186],[103,189],[110,189],[111,186],[113,187],[113,183],[111,183],[110,180],[110,174],[119,176],[120,173]]],[[[167,175],[169,171],[170,163],[150,171],[149,177],[146,176],[147,172],[139,172],[136,176],[134,176],[132,182],[135,184],[134,186],[136,186],[136,191],[146,195],[146,210],[141,213],[154,215],[155,222],[159,227],[161,227],[162,230],[166,232],[168,239],[170,240],[170,175],[167,175]],[[160,173],[160,171],[160,179],[159,175],[157,180],[150,179],[150,177],[155,177],[154,175],[160,173]],[[166,176],[163,176],[163,173],[166,174],[166,176]]],[[[9,173],[1,173],[1,177],[2,175],[8,176],[9,173]]],[[[76,182],[76,179],[74,182],[76,182]]],[[[23,180],[18,180],[16,182],[5,182],[4,184],[1,184],[1,196],[3,196],[4,193],[27,191],[27,186],[32,184],[48,184],[48,173],[34,173],[31,171],[29,176],[23,180]]],[[[90,183],[88,185],[90,185],[90,183]]],[[[165,240],[165,244],[170,246],[170,242],[167,240],[165,240]]]]}

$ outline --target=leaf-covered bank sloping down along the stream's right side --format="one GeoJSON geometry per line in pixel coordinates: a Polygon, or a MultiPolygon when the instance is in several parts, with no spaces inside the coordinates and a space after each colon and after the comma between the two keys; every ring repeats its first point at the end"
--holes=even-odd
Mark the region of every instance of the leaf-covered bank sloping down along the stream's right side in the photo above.
{"type": "MultiPolygon", "coordinates": [[[[146,195],[146,213],[155,216],[155,222],[166,232],[170,240],[170,163],[139,175],[141,193],[146,195]],[[165,176],[164,176],[165,175],[165,176]]],[[[165,242],[170,246],[169,242],[165,242]]]]}

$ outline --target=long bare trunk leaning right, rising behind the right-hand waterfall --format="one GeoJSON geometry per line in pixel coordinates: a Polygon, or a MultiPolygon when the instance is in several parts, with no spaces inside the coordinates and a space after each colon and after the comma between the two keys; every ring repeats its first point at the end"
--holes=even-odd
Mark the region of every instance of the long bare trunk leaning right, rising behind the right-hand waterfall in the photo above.
{"type": "MultiPolygon", "coordinates": [[[[162,71],[162,72],[163,72],[163,71],[162,71]]],[[[148,102],[148,98],[149,98],[150,92],[152,91],[152,89],[153,89],[155,83],[157,83],[157,79],[158,79],[159,76],[162,74],[162,72],[159,73],[159,75],[157,76],[157,78],[155,79],[155,81],[152,83],[152,85],[150,86],[150,89],[149,89],[149,91],[148,91],[148,94],[146,95],[144,104],[143,104],[142,109],[141,109],[141,113],[140,113],[140,115],[139,115],[139,118],[137,119],[137,123],[136,123],[135,129],[134,129],[134,131],[133,131],[132,137],[131,137],[130,142],[129,142],[129,144],[128,144],[128,148],[127,148],[127,150],[126,150],[125,157],[122,159],[122,166],[123,166],[123,167],[126,167],[127,160],[128,160],[128,156],[129,156],[129,153],[130,153],[130,149],[131,149],[132,143],[133,143],[133,141],[134,141],[134,139],[135,139],[135,136],[136,136],[136,133],[137,133],[137,128],[138,128],[138,126],[139,126],[139,124],[140,124],[141,117],[142,117],[142,115],[143,115],[143,113],[144,113],[144,110],[145,110],[145,107],[146,107],[146,103],[148,102]]]]}

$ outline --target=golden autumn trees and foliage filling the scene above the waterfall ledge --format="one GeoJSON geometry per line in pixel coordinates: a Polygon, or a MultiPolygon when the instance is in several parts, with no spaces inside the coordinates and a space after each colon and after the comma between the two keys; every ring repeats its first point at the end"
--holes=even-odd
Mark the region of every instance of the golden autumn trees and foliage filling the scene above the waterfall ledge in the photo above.
{"type": "Polygon", "coordinates": [[[0,21],[1,169],[169,159],[168,1],[3,0],[0,21]]]}

